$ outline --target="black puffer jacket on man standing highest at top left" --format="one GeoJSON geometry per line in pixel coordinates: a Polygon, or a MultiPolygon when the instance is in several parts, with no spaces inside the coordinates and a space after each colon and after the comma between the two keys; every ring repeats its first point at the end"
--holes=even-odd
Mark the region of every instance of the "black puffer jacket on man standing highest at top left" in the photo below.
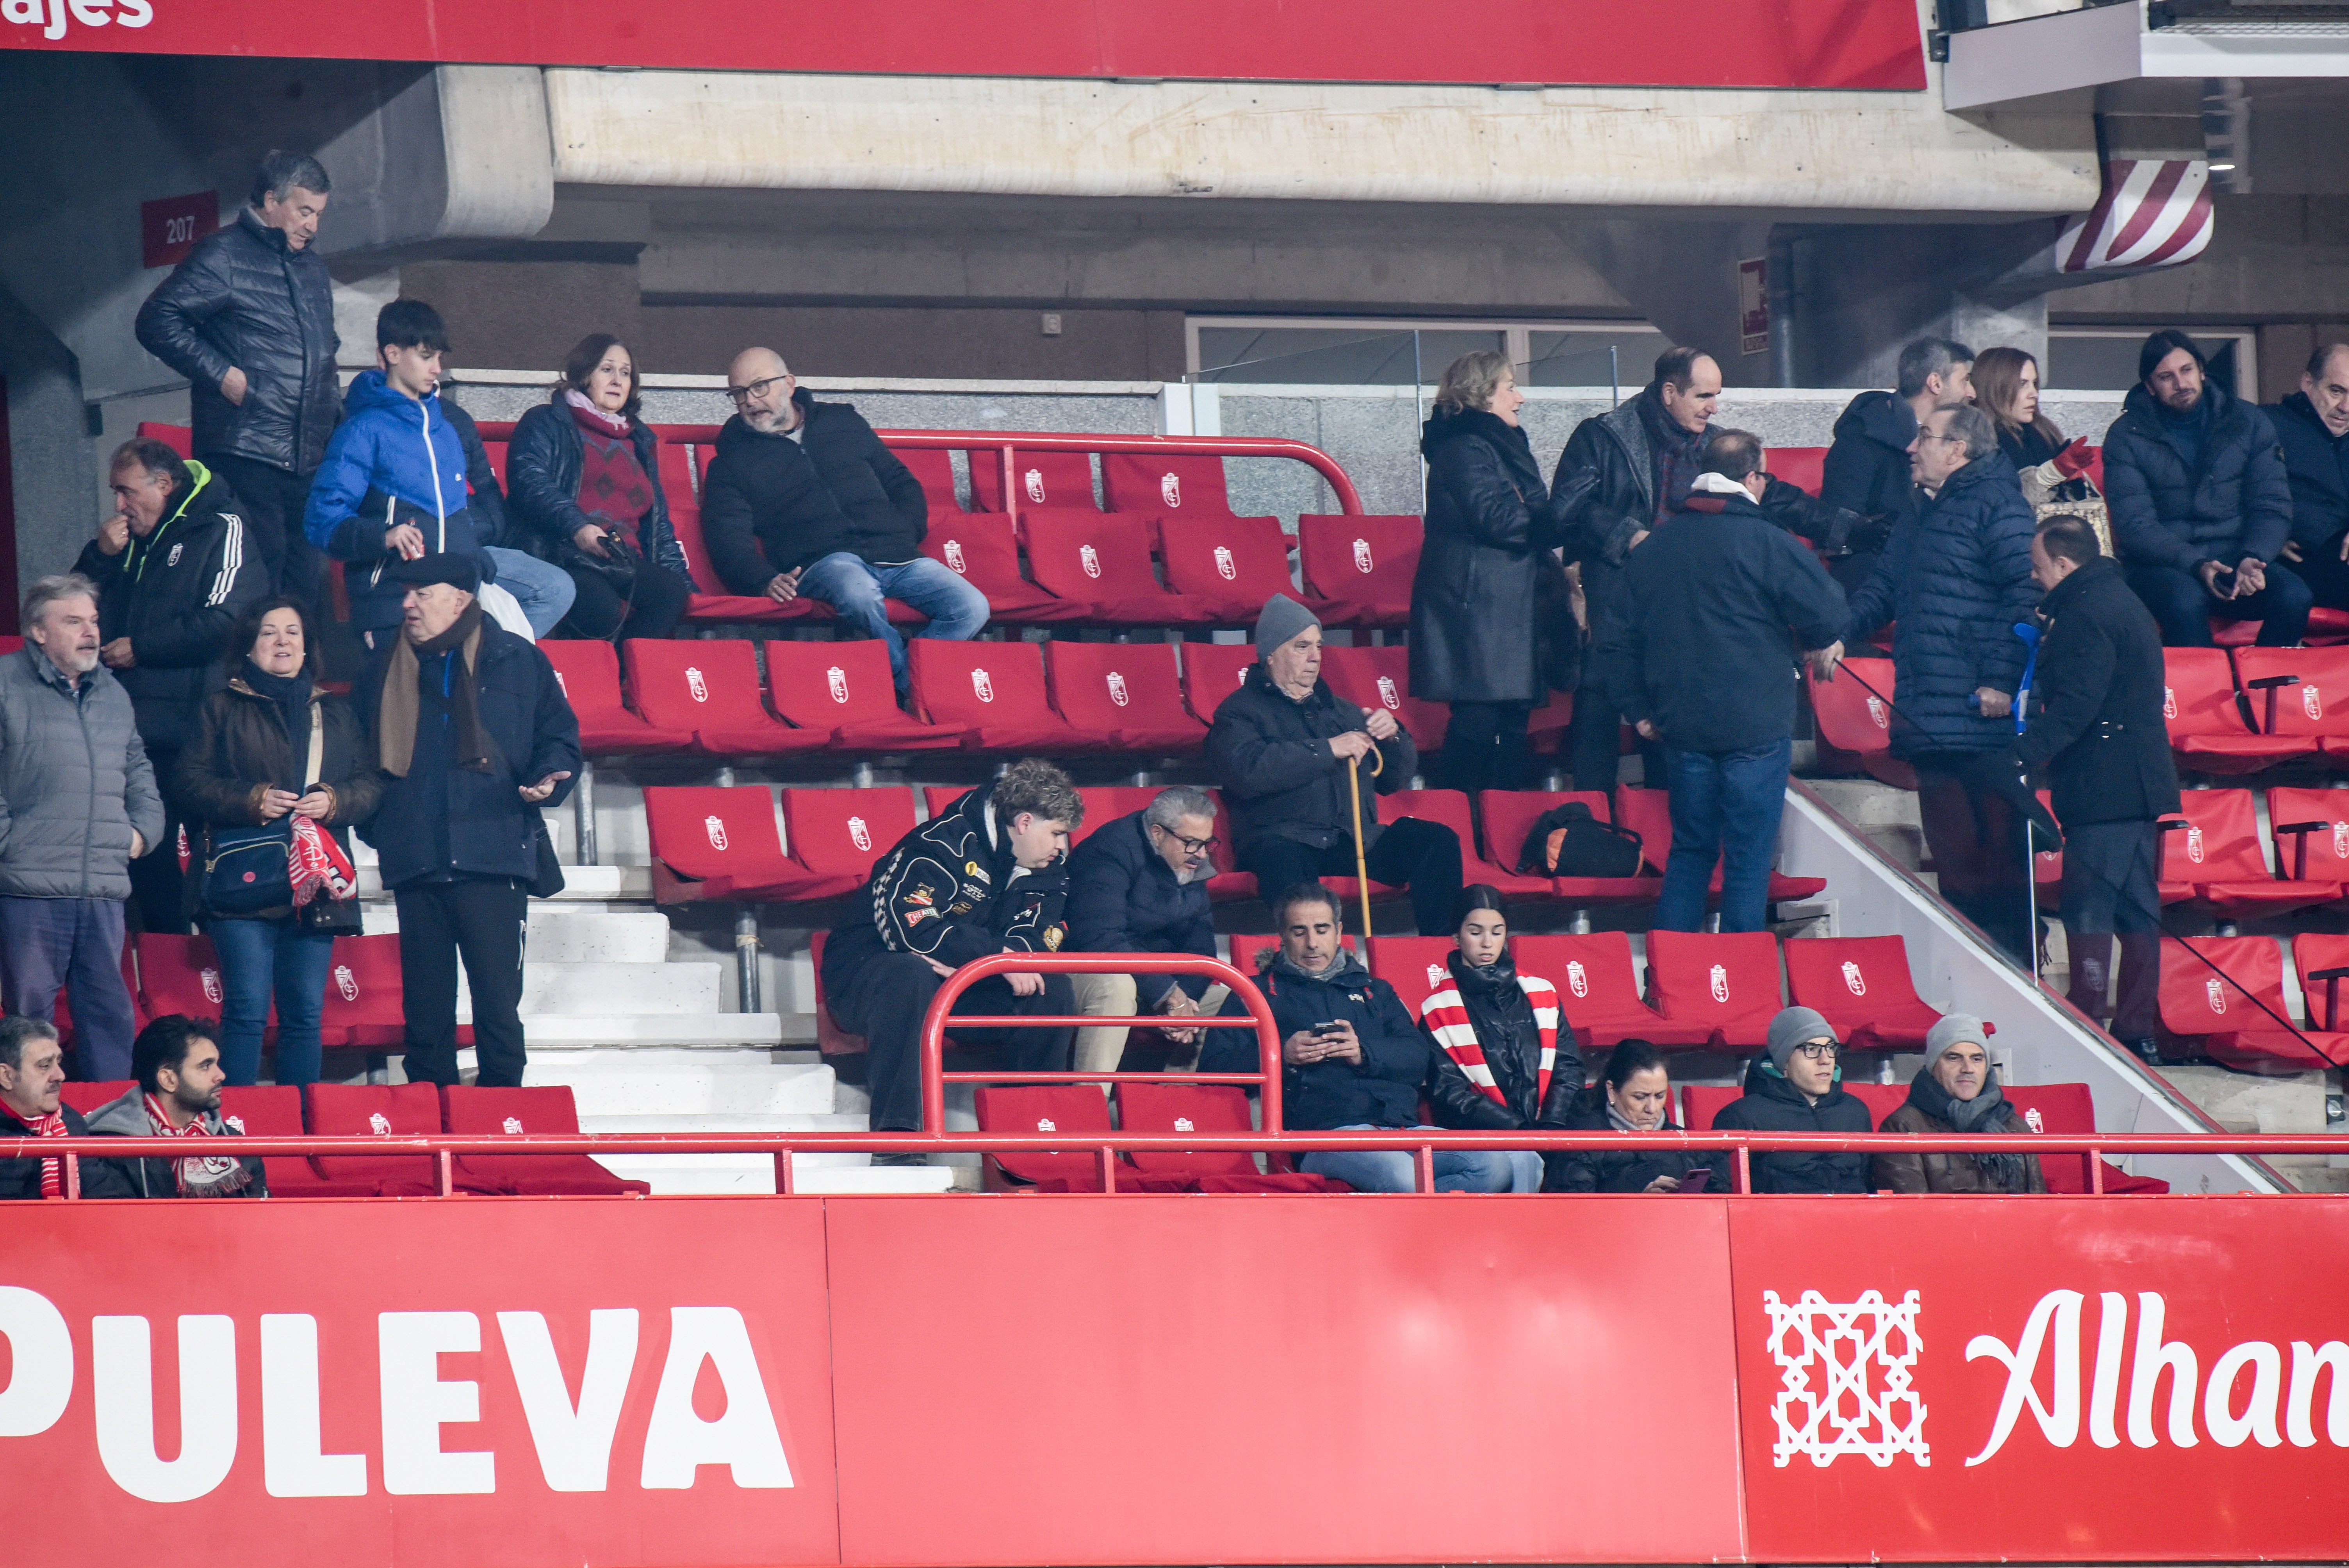
{"type": "Polygon", "coordinates": [[[334,279],[312,239],[244,209],[195,242],[188,261],[139,307],[141,347],[188,378],[195,455],[251,458],[308,474],[327,455],[338,390],[334,279]],[[221,397],[221,378],[244,371],[244,401],[221,397]]]}

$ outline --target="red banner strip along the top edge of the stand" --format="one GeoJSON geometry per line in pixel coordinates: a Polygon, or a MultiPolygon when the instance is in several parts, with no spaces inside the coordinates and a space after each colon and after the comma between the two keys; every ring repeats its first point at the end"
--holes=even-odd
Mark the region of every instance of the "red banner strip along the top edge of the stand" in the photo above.
{"type": "Polygon", "coordinates": [[[1327,82],[1921,89],[1914,0],[1715,5],[1489,0],[7,0],[0,47],[526,66],[1327,82]]]}

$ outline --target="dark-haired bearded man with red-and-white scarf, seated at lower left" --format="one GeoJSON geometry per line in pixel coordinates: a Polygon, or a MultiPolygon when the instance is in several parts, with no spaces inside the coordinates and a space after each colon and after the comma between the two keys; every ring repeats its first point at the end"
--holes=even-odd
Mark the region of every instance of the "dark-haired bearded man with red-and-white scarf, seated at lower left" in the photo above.
{"type": "MultiPolygon", "coordinates": [[[[101,1138],[188,1138],[188,1155],[115,1160],[134,1197],[268,1197],[258,1157],[237,1155],[218,1138],[244,1127],[221,1117],[221,1042],[204,1019],[164,1014],[132,1045],[134,1082],[122,1099],[89,1117],[101,1138]]],[[[85,1167],[89,1169],[89,1167],[85,1167]]]]}

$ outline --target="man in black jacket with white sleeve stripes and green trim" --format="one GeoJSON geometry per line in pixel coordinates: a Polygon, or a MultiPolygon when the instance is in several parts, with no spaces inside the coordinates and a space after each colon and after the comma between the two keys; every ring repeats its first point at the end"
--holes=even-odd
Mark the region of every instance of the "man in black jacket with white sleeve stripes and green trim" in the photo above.
{"type": "Polygon", "coordinates": [[[202,462],[141,437],[115,448],[110,479],[117,512],[73,570],[99,584],[99,662],[132,695],[164,800],[160,852],[132,861],[132,892],[146,930],[186,932],[179,751],[204,697],[228,683],[221,648],[244,608],[270,592],[270,575],[251,552],[242,502],[202,462]]]}

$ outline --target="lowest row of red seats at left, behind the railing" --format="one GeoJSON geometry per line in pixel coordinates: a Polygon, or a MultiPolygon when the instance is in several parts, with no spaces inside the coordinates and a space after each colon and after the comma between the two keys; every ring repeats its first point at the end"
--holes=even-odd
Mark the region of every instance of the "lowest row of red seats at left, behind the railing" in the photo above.
{"type": "MultiPolygon", "coordinates": [[[[331,991],[329,991],[331,995],[331,991]]],[[[174,1009],[164,1009],[174,1012],[174,1009]]],[[[89,1115],[132,1082],[73,1082],[63,1101],[89,1115]]],[[[221,1089],[221,1115],[254,1138],[399,1136],[399,1134],[576,1134],[578,1103],[566,1084],[531,1089],[444,1089],[437,1084],[258,1084],[221,1089]]],[[[430,1155],[270,1155],[270,1197],[432,1197],[439,1178],[430,1155]]],[[[458,1192],[507,1197],[622,1197],[651,1192],[587,1155],[458,1155],[458,1192]]]]}

